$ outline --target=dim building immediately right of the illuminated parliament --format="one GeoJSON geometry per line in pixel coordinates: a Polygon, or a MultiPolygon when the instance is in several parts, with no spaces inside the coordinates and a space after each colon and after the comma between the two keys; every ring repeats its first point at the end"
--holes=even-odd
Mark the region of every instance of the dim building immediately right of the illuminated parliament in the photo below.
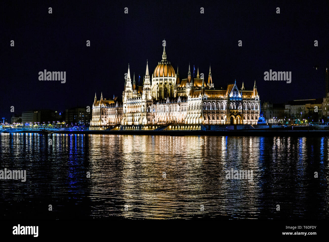
{"type": "Polygon", "coordinates": [[[285,105],[264,103],[262,107],[265,122],[268,124],[283,124],[285,121],[285,105]]]}

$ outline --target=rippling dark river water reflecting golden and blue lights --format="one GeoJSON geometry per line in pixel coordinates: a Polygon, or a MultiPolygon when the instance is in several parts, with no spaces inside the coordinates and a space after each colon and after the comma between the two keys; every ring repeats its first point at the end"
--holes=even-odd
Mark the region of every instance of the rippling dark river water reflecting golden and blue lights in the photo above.
{"type": "Polygon", "coordinates": [[[0,170],[26,182],[0,180],[0,216],[329,218],[328,152],[327,137],[1,133],[0,170]]]}

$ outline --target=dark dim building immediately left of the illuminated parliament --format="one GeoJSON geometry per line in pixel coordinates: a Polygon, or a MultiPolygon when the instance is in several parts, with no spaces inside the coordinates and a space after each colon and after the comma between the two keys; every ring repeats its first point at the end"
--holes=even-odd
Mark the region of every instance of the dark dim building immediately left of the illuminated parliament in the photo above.
{"type": "Polygon", "coordinates": [[[89,126],[91,119],[91,111],[87,112],[87,108],[76,107],[65,110],[65,121],[68,126],[89,126]]]}

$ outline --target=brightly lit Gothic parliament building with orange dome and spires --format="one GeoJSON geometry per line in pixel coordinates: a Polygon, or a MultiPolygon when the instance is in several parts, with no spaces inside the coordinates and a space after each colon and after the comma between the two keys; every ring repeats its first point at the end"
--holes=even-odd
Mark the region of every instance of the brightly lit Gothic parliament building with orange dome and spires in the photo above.
{"type": "MultiPolygon", "coordinates": [[[[120,98],[121,99],[121,98],[120,98]]],[[[122,101],[119,98],[97,100],[92,105],[89,130],[201,130],[209,125],[257,124],[260,98],[256,81],[252,90],[236,83],[216,89],[209,67],[208,81],[189,72],[180,79],[167,61],[165,46],[162,61],[149,74],[148,62],[143,85],[137,86],[135,75],[125,76],[122,101]],[[152,82],[151,82],[152,81],[152,82]],[[170,127],[170,128],[169,128],[170,127]]]]}

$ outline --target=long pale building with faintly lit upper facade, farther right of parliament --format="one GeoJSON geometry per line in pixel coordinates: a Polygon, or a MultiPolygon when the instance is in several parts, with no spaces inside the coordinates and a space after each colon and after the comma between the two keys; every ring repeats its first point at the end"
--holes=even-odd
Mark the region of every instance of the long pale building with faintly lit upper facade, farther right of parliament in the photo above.
{"type": "Polygon", "coordinates": [[[322,99],[293,100],[285,105],[287,123],[322,123],[322,99]]]}

